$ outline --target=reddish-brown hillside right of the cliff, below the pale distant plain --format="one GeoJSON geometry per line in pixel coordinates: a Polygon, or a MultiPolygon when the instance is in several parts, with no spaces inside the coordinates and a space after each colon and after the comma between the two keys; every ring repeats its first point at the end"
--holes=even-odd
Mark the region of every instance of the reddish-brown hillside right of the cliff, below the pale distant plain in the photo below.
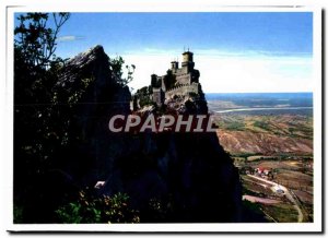
{"type": "Polygon", "coordinates": [[[312,154],[312,117],[304,115],[216,115],[218,136],[232,154],[312,154]]]}

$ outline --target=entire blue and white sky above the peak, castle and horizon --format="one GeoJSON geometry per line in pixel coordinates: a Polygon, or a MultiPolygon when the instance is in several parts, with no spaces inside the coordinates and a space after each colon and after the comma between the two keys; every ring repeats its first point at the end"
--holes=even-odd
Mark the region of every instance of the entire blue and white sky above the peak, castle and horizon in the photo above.
{"type": "Polygon", "coordinates": [[[206,93],[312,92],[311,12],[72,13],[57,56],[102,45],[134,64],[137,90],[194,52],[206,93]]]}

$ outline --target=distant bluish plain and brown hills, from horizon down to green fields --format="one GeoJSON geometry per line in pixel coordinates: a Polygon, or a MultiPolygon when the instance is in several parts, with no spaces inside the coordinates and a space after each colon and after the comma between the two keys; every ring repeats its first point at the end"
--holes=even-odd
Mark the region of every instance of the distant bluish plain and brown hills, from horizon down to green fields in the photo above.
{"type": "Polygon", "coordinates": [[[309,94],[210,95],[220,143],[231,154],[313,153],[309,94]],[[281,103],[283,102],[283,104],[281,103]]]}

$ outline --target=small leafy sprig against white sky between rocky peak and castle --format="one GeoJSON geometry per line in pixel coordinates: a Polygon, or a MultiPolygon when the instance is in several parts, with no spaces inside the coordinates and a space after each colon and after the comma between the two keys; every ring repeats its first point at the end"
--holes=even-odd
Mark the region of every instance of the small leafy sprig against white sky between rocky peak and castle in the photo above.
{"type": "Polygon", "coordinates": [[[133,80],[133,72],[136,70],[136,66],[125,64],[125,60],[120,56],[114,59],[109,59],[109,68],[112,70],[113,79],[115,79],[115,81],[121,86],[126,86],[133,80]],[[126,69],[126,75],[124,75],[124,69],[126,69]]]}

